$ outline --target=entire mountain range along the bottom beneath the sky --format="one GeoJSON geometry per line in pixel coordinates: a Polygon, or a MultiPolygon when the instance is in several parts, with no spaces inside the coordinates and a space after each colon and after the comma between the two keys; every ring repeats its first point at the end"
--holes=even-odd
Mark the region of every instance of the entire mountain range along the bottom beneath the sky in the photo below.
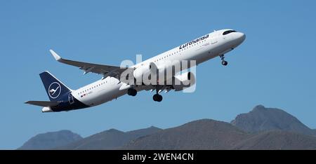
{"type": "Polygon", "coordinates": [[[282,109],[257,105],[230,123],[205,118],[164,130],[109,129],[54,149],[316,149],[316,130],[282,109]]]}

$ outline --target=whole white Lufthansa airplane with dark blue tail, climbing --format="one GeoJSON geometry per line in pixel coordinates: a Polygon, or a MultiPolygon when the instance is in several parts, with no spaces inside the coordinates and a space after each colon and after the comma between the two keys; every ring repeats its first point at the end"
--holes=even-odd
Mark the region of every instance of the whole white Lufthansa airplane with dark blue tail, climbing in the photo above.
{"type": "MultiPolygon", "coordinates": [[[[131,67],[117,67],[66,60],[55,53],[55,51],[50,50],[51,55],[53,55],[58,62],[79,67],[79,69],[84,70],[84,74],[88,72],[100,74],[103,78],[77,90],[72,90],[59,81],[58,78],[55,78],[53,74],[44,71],[39,74],[39,76],[41,77],[41,81],[44,84],[50,101],[28,101],[25,102],[25,104],[43,107],[42,112],[71,111],[94,107],[126,94],[136,96],[141,90],[155,90],[156,94],[153,95],[153,100],[155,102],[161,102],[162,95],[159,93],[163,90],[165,90],[166,93],[170,90],[179,91],[195,84],[195,74],[190,71],[176,75],[176,73],[190,68],[190,65],[187,68],[183,68],[181,64],[180,70],[172,74],[172,80],[180,81],[177,85],[174,82],[168,85],[166,83],[145,85],[143,82],[129,83],[129,81],[135,81],[136,78],[144,76],[144,74],[148,72],[150,72],[152,77],[156,77],[157,74],[160,74],[159,72],[166,71],[166,67],[175,67],[173,62],[167,61],[195,61],[196,64],[200,64],[214,57],[220,57],[221,64],[226,66],[228,62],[225,60],[224,55],[234,50],[245,39],[245,34],[237,32],[234,29],[214,30],[214,32],[184,43],[143,62],[134,64],[131,67]],[[133,78],[127,78],[127,81],[123,81],[119,76],[126,74],[126,72],[129,72],[129,75],[132,74],[133,78]],[[187,81],[189,84],[184,85],[183,83],[187,81]]],[[[159,81],[161,79],[166,82],[169,78],[157,76],[156,80],[159,81]]]]}

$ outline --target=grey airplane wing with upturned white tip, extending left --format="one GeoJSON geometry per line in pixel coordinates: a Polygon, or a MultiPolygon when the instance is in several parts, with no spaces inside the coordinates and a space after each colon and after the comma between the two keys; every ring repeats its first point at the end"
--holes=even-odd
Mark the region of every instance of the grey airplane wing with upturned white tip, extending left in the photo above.
{"type": "Polygon", "coordinates": [[[93,72],[96,74],[101,74],[103,76],[112,76],[112,75],[120,75],[122,72],[126,71],[126,69],[130,69],[131,71],[133,68],[129,67],[117,67],[117,66],[111,66],[111,65],[103,65],[103,64],[93,64],[88,62],[77,62],[73,60],[66,60],[62,59],[57,53],[55,53],[53,50],[50,50],[53,57],[55,57],[55,60],[58,62],[62,62],[64,64],[69,64],[74,67],[79,67],[79,69],[84,70],[84,74],[87,74],[88,72],[93,72]]]}

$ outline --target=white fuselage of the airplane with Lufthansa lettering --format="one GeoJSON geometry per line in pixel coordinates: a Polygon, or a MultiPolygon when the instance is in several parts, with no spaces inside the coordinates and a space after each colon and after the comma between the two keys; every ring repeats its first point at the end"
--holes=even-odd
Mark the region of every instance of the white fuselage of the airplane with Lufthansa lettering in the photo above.
{"type": "MultiPolygon", "coordinates": [[[[135,64],[132,67],[136,69],[142,65],[150,64],[151,62],[154,62],[154,64],[159,66],[160,64],[164,64],[166,60],[195,60],[196,64],[200,64],[213,57],[217,57],[218,55],[228,53],[244,41],[245,36],[240,32],[223,35],[223,32],[227,30],[229,29],[212,32],[202,41],[197,43],[192,41],[190,43],[185,43],[157,56],[151,57],[148,60],[135,64]],[[186,46],[183,48],[184,45],[186,46]]],[[[78,90],[72,90],[72,93],[77,100],[92,107],[125,95],[126,90],[120,89],[124,85],[126,84],[121,83],[119,79],[107,76],[104,79],[88,84],[78,90]]],[[[137,88],[138,91],[144,89],[145,87],[137,88]]]]}

